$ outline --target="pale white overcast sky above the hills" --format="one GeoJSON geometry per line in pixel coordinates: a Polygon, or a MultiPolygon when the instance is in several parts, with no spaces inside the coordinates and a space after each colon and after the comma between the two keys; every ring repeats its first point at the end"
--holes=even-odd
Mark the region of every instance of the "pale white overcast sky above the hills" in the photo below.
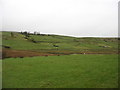
{"type": "Polygon", "coordinates": [[[118,1],[0,0],[0,16],[3,15],[1,30],[91,37],[117,36],[118,1]]]}

